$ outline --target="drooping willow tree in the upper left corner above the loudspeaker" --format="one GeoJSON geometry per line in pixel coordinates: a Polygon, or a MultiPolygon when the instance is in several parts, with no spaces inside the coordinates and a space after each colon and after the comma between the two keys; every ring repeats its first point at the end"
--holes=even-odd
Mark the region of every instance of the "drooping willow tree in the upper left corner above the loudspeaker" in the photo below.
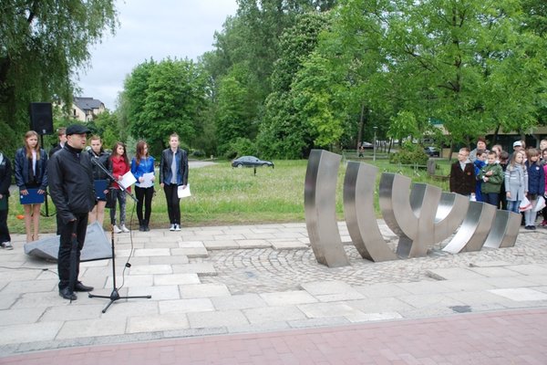
{"type": "Polygon", "coordinates": [[[7,151],[28,126],[31,101],[72,101],[73,76],[89,47],[114,32],[112,0],[15,1],[0,5],[0,144],[7,151]]]}

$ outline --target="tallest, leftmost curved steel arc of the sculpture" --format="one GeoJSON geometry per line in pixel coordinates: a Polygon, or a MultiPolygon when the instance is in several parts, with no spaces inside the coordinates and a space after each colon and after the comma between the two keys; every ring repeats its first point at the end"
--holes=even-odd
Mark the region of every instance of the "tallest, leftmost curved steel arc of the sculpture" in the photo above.
{"type": "Polygon", "coordinates": [[[317,262],[329,267],[349,261],[336,222],[336,179],[342,156],[312,150],[304,181],[305,224],[317,262]]]}

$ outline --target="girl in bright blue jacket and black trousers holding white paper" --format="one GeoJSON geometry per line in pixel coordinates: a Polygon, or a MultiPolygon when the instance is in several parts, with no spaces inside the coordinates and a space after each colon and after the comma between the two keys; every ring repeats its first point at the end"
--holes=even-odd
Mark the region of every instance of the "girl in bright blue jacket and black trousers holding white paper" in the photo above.
{"type": "Polygon", "coordinates": [[[152,213],[152,197],[154,196],[154,158],[148,152],[145,141],[137,142],[137,152],[131,160],[131,173],[137,179],[135,194],[137,195],[137,217],[139,231],[150,231],[150,214],[152,213]],[[151,175],[150,175],[151,174],[151,175]],[[144,216],[142,206],[144,205],[144,216]]]}

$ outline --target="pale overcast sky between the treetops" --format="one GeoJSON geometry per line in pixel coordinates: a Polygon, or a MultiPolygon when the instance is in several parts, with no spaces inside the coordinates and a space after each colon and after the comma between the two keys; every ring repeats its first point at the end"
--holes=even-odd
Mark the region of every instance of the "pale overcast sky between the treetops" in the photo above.
{"type": "Polygon", "coordinates": [[[124,79],[147,59],[197,60],[213,49],[215,31],[235,15],[236,0],[117,0],[119,27],[90,47],[90,66],[75,82],[81,97],[99,99],[109,110],[124,79]]]}

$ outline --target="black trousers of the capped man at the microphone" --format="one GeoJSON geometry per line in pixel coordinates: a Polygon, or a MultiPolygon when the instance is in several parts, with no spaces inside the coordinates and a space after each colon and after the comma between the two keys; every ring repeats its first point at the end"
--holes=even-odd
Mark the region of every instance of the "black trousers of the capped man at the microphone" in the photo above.
{"type": "Polygon", "coordinates": [[[68,287],[70,284],[70,250],[72,249],[72,234],[76,233],[77,247],[76,247],[76,275],[75,284],[77,283],[77,276],[79,275],[79,261],[80,253],[84,248],[84,242],[86,241],[86,230],[88,228],[88,213],[74,214],[76,221],[68,224],[61,223],[59,227],[61,231],[61,238],[59,242],[59,254],[57,258],[57,270],[59,272],[59,290],[68,287]]]}

